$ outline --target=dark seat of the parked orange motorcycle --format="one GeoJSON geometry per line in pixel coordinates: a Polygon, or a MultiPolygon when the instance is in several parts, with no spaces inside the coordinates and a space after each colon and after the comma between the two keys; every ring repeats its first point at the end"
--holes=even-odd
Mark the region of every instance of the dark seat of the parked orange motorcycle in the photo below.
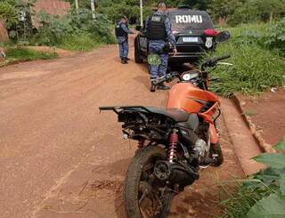
{"type": "Polygon", "coordinates": [[[182,109],[159,109],[159,108],[147,108],[152,113],[161,114],[170,117],[177,123],[186,122],[190,116],[189,113],[183,111],[182,109]]]}

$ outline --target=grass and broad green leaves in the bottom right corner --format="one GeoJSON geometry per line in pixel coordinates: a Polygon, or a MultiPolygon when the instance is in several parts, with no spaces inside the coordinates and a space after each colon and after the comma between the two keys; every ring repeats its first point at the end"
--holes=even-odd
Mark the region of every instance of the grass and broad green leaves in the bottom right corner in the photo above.
{"type": "Polygon", "coordinates": [[[275,149],[281,153],[254,158],[268,168],[245,181],[233,181],[238,184],[237,191],[232,193],[231,182],[221,184],[223,218],[285,217],[285,138],[275,149]]]}

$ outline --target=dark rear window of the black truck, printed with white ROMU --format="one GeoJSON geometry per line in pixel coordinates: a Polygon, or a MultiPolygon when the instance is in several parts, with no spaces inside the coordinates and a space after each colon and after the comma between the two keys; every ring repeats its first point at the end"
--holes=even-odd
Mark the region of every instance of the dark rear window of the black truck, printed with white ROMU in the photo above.
{"type": "Polygon", "coordinates": [[[214,28],[213,21],[207,12],[177,10],[168,12],[168,17],[171,20],[172,29],[176,31],[214,28]]]}

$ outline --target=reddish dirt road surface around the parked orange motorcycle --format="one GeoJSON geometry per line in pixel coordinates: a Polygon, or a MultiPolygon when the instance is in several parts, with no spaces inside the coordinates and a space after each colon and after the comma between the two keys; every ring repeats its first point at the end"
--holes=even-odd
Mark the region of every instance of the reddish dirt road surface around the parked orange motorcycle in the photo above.
{"type": "MultiPolygon", "coordinates": [[[[148,88],[146,67],[121,65],[115,45],[0,69],[0,217],[124,217],[121,185],[135,146],[98,107],[165,106],[167,94],[148,88]]],[[[216,181],[242,175],[224,122],[221,131],[224,166],[205,170],[171,217],[212,217],[216,181]]]]}

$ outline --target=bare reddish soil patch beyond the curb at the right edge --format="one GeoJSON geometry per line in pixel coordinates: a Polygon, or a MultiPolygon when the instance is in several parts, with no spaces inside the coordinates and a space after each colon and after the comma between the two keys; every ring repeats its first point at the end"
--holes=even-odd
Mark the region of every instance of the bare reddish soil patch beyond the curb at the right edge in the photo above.
{"type": "Polygon", "coordinates": [[[274,145],[285,137],[285,90],[243,97],[243,108],[265,141],[274,145]]]}

